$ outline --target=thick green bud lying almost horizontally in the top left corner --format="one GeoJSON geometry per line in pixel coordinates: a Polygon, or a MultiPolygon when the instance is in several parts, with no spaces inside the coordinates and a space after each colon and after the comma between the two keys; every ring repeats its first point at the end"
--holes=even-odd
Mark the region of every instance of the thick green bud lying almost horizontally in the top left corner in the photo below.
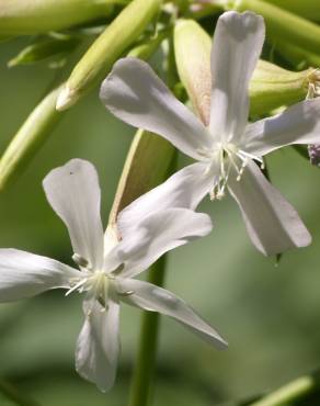
{"type": "Polygon", "coordinates": [[[0,35],[34,35],[108,15],[112,0],[1,0],[0,35]]]}

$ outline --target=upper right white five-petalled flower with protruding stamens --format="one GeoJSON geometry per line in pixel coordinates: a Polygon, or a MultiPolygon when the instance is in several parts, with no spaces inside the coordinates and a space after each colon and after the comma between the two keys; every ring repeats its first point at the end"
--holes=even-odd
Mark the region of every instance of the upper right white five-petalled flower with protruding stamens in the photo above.
{"type": "MultiPolygon", "coordinates": [[[[219,18],[212,50],[208,127],[139,59],[115,64],[102,84],[101,99],[121,120],[162,135],[198,161],[150,192],[150,200],[195,208],[206,194],[221,198],[228,188],[255,247],[274,255],[307,246],[311,237],[254,161],[262,165],[263,156],[286,145],[319,144],[320,100],[306,100],[276,116],[248,123],[248,87],[263,41],[261,16],[230,11],[219,18]]],[[[137,213],[138,204],[132,207],[137,213]]]]}

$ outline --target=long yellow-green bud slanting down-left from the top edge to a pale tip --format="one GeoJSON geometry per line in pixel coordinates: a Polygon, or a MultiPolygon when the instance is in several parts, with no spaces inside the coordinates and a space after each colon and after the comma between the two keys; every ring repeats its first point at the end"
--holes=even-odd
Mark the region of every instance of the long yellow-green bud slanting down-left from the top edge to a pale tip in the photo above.
{"type": "Polygon", "coordinates": [[[91,45],[59,94],[57,110],[75,104],[103,79],[160,9],[161,0],[133,0],[91,45]]]}

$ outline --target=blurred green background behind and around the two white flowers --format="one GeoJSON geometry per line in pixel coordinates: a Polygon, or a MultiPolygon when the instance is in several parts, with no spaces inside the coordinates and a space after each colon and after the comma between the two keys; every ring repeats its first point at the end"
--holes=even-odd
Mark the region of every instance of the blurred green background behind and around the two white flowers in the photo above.
{"type": "MultiPolygon", "coordinates": [[[[7,69],[21,41],[1,45],[0,151],[53,79],[42,65],[7,69]]],[[[134,129],[112,117],[95,93],[71,109],[20,179],[0,195],[0,246],[71,263],[67,230],[47,204],[42,179],[70,158],[98,168],[106,221],[134,129]]],[[[185,165],[180,157],[180,166],[185,165]]],[[[163,318],[155,406],[209,406],[275,388],[320,365],[320,171],[290,148],[268,159],[276,187],[295,205],[313,244],[278,267],[251,246],[230,198],[205,201],[215,230],[170,253],[167,286],[229,341],[218,352],[163,318]]],[[[259,210],[259,207],[258,207],[259,210]]],[[[115,387],[101,394],[75,372],[81,297],[49,292],[0,306],[0,375],[43,406],[122,405],[128,396],[139,332],[137,309],[123,306],[115,387]]],[[[0,394],[0,405],[13,403],[0,394]]]]}

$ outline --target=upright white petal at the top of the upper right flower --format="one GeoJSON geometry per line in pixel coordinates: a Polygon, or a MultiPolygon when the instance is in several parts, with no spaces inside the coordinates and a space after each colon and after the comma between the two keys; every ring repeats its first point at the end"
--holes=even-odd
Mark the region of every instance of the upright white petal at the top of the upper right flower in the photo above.
{"type": "Polygon", "coordinates": [[[264,42],[263,18],[229,11],[217,23],[212,52],[210,132],[216,139],[239,137],[248,122],[249,81],[264,42]]]}

